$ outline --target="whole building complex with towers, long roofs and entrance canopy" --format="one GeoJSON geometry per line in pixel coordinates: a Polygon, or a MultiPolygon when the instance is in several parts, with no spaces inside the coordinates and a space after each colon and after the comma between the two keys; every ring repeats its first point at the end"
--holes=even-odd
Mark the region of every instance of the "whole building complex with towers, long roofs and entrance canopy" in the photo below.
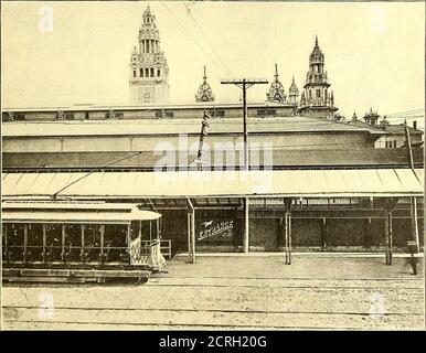
{"type": "Polygon", "coordinates": [[[138,204],[162,214],[171,255],[376,250],[388,261],[407,242],[423,248],[423,132],[338,118],[318,39],[300,98],[276,67],[266,100],[247,104],[244,170],[242,104],[215,101],[205,71],[195,101],[170,104],[149,9],[142,20],[132,105],[2,109],[4,201],[138,204]]]}

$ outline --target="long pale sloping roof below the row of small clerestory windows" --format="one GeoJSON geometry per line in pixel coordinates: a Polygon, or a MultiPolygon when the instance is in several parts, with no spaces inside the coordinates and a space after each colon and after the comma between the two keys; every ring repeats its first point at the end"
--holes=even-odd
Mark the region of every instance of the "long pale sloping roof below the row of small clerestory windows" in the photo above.
{"type": "MultiPolygon", "coordinates": [[[[373,127],[353,126],[330,120],[319,120],[302,116],[294,117],[249,117],[248,133],[291,132],[369,132],[386,135],[373,127]]],[[[209,133],[242,133],[241,118],[211,119],[209,133]]],[[[201,118],[198,119],[131,119],[131,120],[85,120],[85,121],[28,121],[2,125],[2,136],[11,137],[65,137],[65,136],[158,136],[192,133],[199,135],[201,118]]]]}

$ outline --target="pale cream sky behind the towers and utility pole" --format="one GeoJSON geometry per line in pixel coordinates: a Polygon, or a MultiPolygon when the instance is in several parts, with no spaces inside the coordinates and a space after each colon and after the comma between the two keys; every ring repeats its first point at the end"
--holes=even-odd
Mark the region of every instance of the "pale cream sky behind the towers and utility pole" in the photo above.
{"type": "MultiPolygon", "coordinates": [[[[424,107],[425,4],[150,1],[169,64],[171,103],[194,103],[203,65],[217,101],[223,78],[291,77],[302,88],[318,35],[339,111],[424,107]]],[[[147,1],[2,2],[3,107],[129,103],[129,60],[147,1]],[[53,22],[46,22],[52,14],[53,22]],[[46,17],[47,15],[47,17],[46,17]]],[[[248,89],[263,101],[268,85],[248,89]]]]}

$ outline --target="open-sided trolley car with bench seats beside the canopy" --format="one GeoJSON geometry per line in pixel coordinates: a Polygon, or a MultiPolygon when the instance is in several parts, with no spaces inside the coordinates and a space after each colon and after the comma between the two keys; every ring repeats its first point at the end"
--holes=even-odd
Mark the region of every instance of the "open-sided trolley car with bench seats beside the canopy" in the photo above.
{"type": "Polygon", "coordinates": [[[148,280],[164,266],[161,214],[135,204],[2,202],[3,280],[148,280]]]}

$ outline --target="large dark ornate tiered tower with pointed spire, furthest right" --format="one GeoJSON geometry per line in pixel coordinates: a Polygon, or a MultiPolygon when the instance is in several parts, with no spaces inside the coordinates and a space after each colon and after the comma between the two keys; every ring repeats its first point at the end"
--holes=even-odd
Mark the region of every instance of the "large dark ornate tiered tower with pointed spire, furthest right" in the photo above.
{"type": "Polygon", "coordinates": [[[332,118],[338,108],[334,107],[334,95],[329,93],[330,84],[324,71],[324,54],[318,45],[318,36],[313,51],[309,56],[309,71],[306,75],[299,111],[316,118],[332,118]]]}

